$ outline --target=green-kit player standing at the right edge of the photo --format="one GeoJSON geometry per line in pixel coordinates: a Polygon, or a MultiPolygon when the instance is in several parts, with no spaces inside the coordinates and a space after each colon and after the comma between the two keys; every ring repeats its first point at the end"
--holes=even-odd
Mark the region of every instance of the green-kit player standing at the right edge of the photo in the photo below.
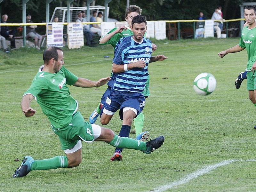
{"type": "Polygon", "coordinates": [[[223,58],[228,53],[240,52],[246,49],[248,55],[246,66],[247,90],[249,91],[250,100],[256,107],[256,8],[252,5],[246,6],[244,8],[244,18],[248,26],[243,28],[239,44],[218,53],[218,55],[223,58]]]}

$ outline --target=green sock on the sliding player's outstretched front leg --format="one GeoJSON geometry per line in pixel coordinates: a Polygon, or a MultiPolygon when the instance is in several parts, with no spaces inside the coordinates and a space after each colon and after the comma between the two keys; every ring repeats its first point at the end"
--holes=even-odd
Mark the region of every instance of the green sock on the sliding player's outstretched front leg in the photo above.
{"type": "Polygon", "coordinates": [[[120,137],[118,135],[114,135],[112,141],[108,143],[116,148],[126,148],[126,149],[136,149],[140,151],[146,151],[146,143],[138,140],[134,140],[129,137],[120,137]]]}

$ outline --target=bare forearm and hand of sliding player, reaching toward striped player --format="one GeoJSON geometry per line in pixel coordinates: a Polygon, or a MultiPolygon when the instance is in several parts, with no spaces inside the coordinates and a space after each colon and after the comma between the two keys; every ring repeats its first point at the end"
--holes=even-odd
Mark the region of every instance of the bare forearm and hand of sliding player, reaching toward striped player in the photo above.
{"type": "Polygon", "coordinates": [[[110,77],[101,78],[98,81],[91,81],[85,78],[79,77],[75,84],[76,87],[100,87],[106,84],[110,80],[110,77]]]}

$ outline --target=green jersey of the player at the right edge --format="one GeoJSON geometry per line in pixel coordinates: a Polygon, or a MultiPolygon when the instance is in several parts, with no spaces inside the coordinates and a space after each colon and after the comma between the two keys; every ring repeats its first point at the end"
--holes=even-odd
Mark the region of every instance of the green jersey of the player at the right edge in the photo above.
{"type": "Polygon", "coordinates": [[[251,71],[252,65],[256,60],[256,28],[243,28],[239,46],[245,48],[248,55],[246,71],[251,71]]]}

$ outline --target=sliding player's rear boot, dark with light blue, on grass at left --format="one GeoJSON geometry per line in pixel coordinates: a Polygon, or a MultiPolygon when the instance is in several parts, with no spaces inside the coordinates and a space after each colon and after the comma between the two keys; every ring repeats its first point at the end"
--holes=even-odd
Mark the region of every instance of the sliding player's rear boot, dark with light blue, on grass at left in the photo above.
{"type": "Polygon", "coordinates": [[[12,174],[13,178],[26,176],[31,169],[31,164],[34,163],[34,159],[31,156],[25,156],[15,172],[12,174]]]}

